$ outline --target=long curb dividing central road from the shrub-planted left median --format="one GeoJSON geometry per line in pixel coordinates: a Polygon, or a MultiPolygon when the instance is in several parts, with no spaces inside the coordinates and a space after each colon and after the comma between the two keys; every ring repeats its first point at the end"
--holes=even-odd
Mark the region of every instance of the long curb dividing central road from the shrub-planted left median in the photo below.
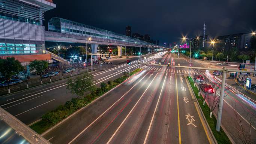
{"type": "MultiPolygon", "coordinates": [[[[138,71],[137,73],[140,73],[142,70],[138,71]]],[[[135,74],[137,74],[135,73],[135,74]]],[[[133,75],[135,75],[133,74],[133,75]]],[[[130,79],[133,75],[129,76],[128,79],[130,79]]],[[[124,80],[124,82],[126,82],[128,79],[124,80]]],[[[115,86],[115,88],[110,89],[109,91],[107,91],[105,94],[99,96],[98,98],[94,99],[92,102],[90,102],[88,105],[86,105],[85,107],[80,108],[79,110],[75,111],[73,114],[71,114],[70,116],[66,117],[64,120],[61,120],[59,123],[57,123],[56,125],[52,126],[50,129],[48,129],[47,131],[43,132],[41,135],[44,136],[46,135],[48,132],[52,131],[52,129],[56,128],[57,126],[61,125],[63,122],[65,122],[66,120],[68,120],[70,117],[74,116],[75,114],[79,113],[80,111],[82,111],[83,109],[89,107],[89,105],[93,104],[95,101],[97,101],[99,98],[107,95],[109,92],[112,92],[114,89],[118,88],[120,85],[122,85],[124,82],[120,83],[119,85],[115,86]]]]}

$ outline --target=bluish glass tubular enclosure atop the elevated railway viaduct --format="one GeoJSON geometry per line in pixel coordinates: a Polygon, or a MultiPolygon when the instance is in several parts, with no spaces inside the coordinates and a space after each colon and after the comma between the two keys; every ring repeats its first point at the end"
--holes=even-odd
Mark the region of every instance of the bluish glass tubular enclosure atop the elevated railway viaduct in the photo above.
{"type": "Polygon", "coordinates": [[[103,30],[89,25],[69,21],[63,18],[51,18],[48,22],[48,30],[57,33],[74,34],[79,36],[95,37],[99,39],[114,40],[119,42],[128,42],[138,45],[153,45],[152,43],[134,39],[112,31],[103,30]]]}

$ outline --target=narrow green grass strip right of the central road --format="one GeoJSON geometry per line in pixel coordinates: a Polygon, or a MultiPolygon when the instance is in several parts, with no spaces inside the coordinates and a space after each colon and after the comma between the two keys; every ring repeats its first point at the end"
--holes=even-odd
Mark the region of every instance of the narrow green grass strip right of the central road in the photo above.
{"type": "Polygon", "coordinates": [[[196,98],[198,99],[198,103],[204,113],[204,116],[208,122],[208,125],[210,126],[211,131],[213,132],[213,135],[216,138],[218,144],[232,144],[222,128],[220,128],[219,132],[216,131],[216,123],[217,123],[216,118],[214,117],[214,115],[212,115],[212,118],[210,118],[210,108],[208,107],[207,104],[203,105],[204,98],[202,97],[201,94],[200,94],[200,96],[198,96],[198,92],[199,92],[198,88],[196,86],[195,87],[193,86],[194,82],[193,82],[192,78],[189,76],[187,76],[187,77],[188,77],[189,83],[191,85],[191,88],[193,89],[193,92],[194,92],[196,98]]]}

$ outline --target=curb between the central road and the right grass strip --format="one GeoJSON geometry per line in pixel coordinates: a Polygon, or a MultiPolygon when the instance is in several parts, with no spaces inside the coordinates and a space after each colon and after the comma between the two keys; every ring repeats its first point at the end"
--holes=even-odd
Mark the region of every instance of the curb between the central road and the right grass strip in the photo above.
{"type": "Polygon", "coordinates": [[[217,142],[217,140],[216,140],[216,138],[215,138],[213,132],[211,131],[210,126],[208,125],[208,122],[207,122],[207,120],[206,120],[206,118],[205,118],[205,116],[204,116],[204,113],[203,113],[203,111],[202,111],[202,109],[201,109],[201,107],[200,107],[200,105],[199,105],[199,103],[198,103],[198,100],[197,100],[197,98],[196,98],[196,96],[195,96],[195,93],[193,92],[193,89],[192,89],[192,86],[191,86],[190,83],[189,83],[188,77],[186,77],[186,82],[189,84],[190,92],[192,91],[192,95],[194,96],[194,98],[195,98],[195,100],[196,100],[196,105],[197,105],[197,107],[199,108],[200,115],[203,117],[203,121],[204,121],[204,123],[205,123],[205,125],[206,125],[206,127],[207,127],[207,132],[208,132],[208,133],[210,134],[210,136],[211,136],[211,138],[210,138],[211,141],[212,141],[214,144],[218,144],[218,142],[217,142]]]}

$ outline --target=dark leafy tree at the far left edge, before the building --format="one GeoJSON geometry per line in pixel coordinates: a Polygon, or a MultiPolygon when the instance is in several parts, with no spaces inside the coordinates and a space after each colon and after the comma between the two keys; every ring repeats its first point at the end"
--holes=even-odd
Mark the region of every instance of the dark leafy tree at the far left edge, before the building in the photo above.
{"type": "Polygon", "coordinates": [[[24,67],[15,58],[7,57],[6,59],[0,59],[0,73],[4,77],[4,80],[7,81],[8,93],[10,93],[9,83],[12,75],[18,74],[22,70],[24,70],[24,67]]]}

